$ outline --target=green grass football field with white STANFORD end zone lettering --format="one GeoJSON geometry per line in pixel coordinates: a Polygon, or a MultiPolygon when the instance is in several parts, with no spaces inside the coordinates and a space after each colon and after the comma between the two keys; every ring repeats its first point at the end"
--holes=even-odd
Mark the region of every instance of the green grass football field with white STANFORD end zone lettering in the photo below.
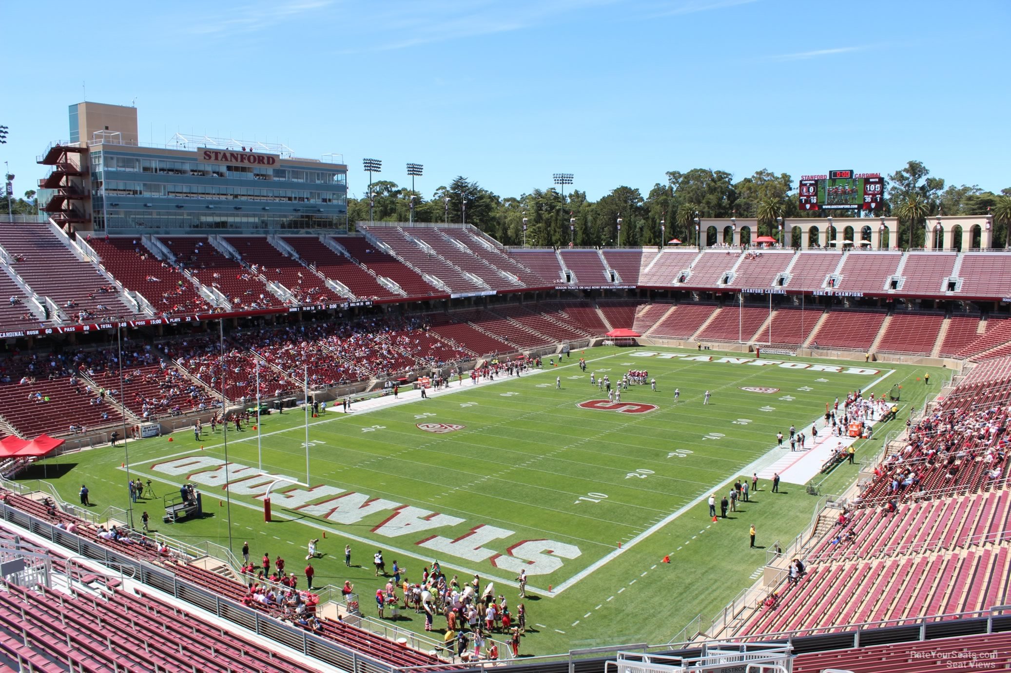
{"type": "MultiPolygon", "coordinates": [[[[210,515],[164,524],[161,497],[135,503],[133,513],[139,524],[140,510],[149,511],[160,533],[180,541],[226,546],[231,510],[237,554],[249,541],[254,558],[280,554],[299,574],[306,541],[325,533],[325,556],[313,562],[316,584],[350,579],[366,613],[381,586],[372,567],[376,550],[387,570],[396,560],[415,580],[433,560],[461,580],[478,573],[514,606],[515,578],[526,568],[532,630],[525,654],[666,642],[753,583],[765,553],[748,547],[751,523],[760,548],[786,544],[810,523],[817,500],[802,485],[784,484],[771,494],[763,482],[736,514],[713,522],[709,493],[750,476],[747,468],[774,447],[776,431],[807,426],[826,402],[857,388],[883,394],[901,385],[904,412],[858,450],[870,454],[922,405],[930,392],[919,380],[925,372],[934,393],[947,378],[944,370],[905,365],[791,357],[755,363],[741,355],[599,348],[585,352],[585,373],[575,353],[561,367],[545,361],[543,372],[476,386],[465,379],[427,400],[348,414],[330,409],[309,420],[307,484],[305,416],[298,410],[264,417],[262,471],[252,426],[228,431],[227,477],[220,428],[206,427],[200,441],[181,430],[172,442],[131,443],[131,476],[151,479],[159,496],[192,481],[210,515]],[[621,406],[578,406],[606,398],[590,385],[590,373],[614,384],[630,369],[648,370],[657,390],[631,386],[621,406]],[[258,496],[276,475],[291,482],[275,486],[274,520],[266,523],[258,496]],[[664,556],[669,564],[661,563],[664,556]]],[[[53,459],[47,471],[70,502],[86,483],[96,509],[126,507],[123,460],[121,446],[105,448],[53,459]]],[[[840,467],[832,485],[851,481],[855,469],[840,467]]],[[[40,476],[36,466],[22,479],[40,476]]],[[[421,631],[424,620],[408,612],[401,626],[421,631]]]]}

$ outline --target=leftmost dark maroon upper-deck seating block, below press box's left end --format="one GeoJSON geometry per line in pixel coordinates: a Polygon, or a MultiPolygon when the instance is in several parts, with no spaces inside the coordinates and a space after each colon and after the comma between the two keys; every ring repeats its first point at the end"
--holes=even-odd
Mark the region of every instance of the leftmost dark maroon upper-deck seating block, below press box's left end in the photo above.
{"type": "Polygon", "coordinates": [[[113,278],[127,289],[140,292],[160,314],[210,312],[210,304],[193,283],[178,269],[152,255],[140,238],[96,237],[91,239],[91,247],[101,256],[102,266],[113,278]]]}

